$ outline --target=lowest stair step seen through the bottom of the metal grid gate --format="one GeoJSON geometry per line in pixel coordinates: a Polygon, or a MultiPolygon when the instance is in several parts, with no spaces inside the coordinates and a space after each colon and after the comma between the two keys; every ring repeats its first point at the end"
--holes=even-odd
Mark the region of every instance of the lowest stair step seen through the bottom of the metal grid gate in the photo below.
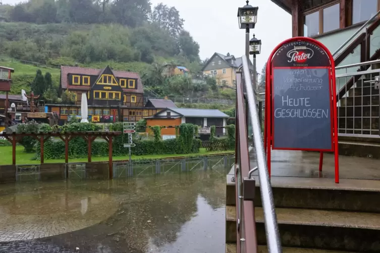
{"type": "Polygon", "coordinates": [[[378,131],[378,116],[376,117],[338,117],[339,129],[376,130],[378,131]]]}

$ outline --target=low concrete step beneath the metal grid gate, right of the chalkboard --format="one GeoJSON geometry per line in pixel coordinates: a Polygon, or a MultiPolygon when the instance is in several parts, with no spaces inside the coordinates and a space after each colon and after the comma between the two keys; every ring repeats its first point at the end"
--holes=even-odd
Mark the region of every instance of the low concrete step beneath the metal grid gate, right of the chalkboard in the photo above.
{"type": "Polygon", "coordinates": [[[380,159],[380,144],[373,142],[339,141],[339,155],[380,159]]]}

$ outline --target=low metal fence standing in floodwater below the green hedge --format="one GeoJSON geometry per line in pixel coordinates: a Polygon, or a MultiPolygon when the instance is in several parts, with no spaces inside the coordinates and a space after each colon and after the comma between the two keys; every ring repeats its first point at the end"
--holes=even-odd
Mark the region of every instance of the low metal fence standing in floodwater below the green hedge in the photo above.
{"type": "Polygon", "coordinates": [[[147,160],[114,162],[114,178],[147,176],[198,170],[213,170],[224,173],[234,164],[234,156],[184,158],[172,160],[147,160]]]}

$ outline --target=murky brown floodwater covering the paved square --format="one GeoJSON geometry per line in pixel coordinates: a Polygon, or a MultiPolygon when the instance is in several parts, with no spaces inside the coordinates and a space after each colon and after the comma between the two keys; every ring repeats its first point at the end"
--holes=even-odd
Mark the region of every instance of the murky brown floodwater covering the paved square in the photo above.
{"type": "Polygon", "coordinates": [[[0,185],[0,252],[224,252],[226,174],[0,185]]]}

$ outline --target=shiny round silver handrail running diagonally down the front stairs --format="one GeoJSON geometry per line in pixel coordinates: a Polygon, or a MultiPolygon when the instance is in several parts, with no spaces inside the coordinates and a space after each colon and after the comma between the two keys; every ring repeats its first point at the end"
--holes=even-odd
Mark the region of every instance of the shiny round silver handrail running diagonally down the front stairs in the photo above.
{"type": "Polygon", "coordinates": [[[243,60],[243,73],[245,77],[245,88],[248,99],[248,111],[250,114],[253,141],[256,151],[256,160],[258,167],[258,177],[260,181],[260,192],[262,207],[264,211],[266,240],[269,253],[282,252],[281,240],[279,235],[279,228],[277,224],[277,217],[275,212],[275,204],[272,193],[272,186],[270,185],[268,167],[265,159],[264,145],[262,143],[261,128],[259,124],[258,113],[256,109],[255,96],[251,86],[251,77],[249,75],[248,60],[245,55],[242,56],[243,60]]]}

